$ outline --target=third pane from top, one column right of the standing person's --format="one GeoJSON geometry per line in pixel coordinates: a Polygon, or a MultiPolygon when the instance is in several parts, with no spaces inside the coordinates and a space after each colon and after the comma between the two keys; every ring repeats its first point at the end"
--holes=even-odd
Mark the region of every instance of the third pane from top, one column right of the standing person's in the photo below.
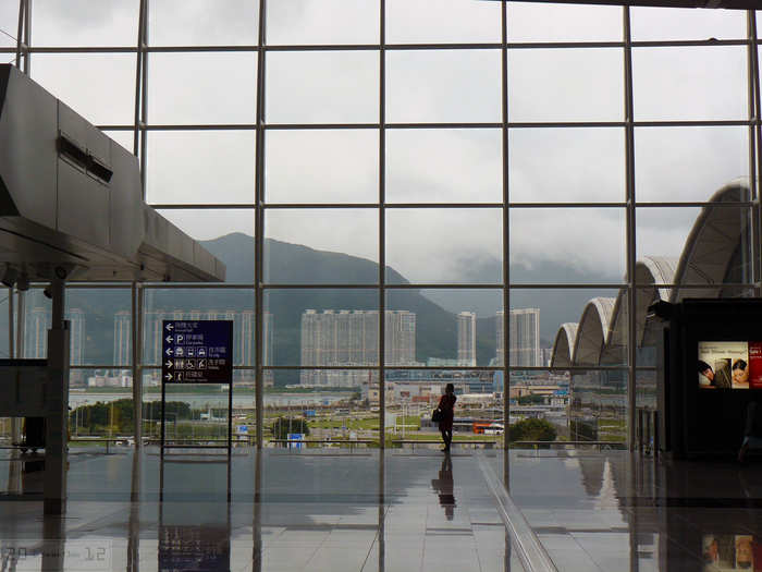
{"type": "Polygon", "coordinates": [[[623,129],[513,129],[512,203],[625,200],[623,129]]]}

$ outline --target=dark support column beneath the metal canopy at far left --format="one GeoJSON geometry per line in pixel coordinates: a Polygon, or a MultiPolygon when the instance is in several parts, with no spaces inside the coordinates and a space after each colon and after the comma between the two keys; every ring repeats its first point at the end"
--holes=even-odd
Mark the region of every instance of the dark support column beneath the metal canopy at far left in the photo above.
{"type": "Polygon", "coordinates": [[[53,299],[48,331],[46,385],[45,513],[63,514],[66,507],[66,430],[69,426],[69,322],[63,319],[63,279],[50,284],[53,299]]]}

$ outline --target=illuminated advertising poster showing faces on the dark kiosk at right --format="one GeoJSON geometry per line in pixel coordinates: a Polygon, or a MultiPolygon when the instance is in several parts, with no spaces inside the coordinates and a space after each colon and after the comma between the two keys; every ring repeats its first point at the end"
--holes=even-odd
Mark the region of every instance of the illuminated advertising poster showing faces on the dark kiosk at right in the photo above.
{"type": "MultiPolygon", "coordinates": [[[[750,348],[760,353],[760,342],[699,342],[698,376],[701,389],[749,389],[750,348]]],[[[757,363],[760,369],[759,387],[762,388],[762,361],[757,363]]],[[[753,386],[752,386],[753,387],[753,386]]]]}

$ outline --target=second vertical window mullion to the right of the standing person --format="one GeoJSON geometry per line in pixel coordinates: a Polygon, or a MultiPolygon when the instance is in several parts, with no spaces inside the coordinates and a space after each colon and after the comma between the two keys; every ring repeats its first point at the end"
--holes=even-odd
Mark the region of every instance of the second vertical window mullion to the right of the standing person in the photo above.
{"type": "Polygon", "coordinates": [[[636,401],[636,370],[637,360],[637,328],[635,320],[636,290],[635,268],[637,264],[636,252],[636,188],[635,188],[635,109],[632,98],[632,44],[630,31],[629,7],[622,8],[623,34],[624,34],[624,63],[625,63],[625,149],[626,149],[626,193],[627,193],[627,445],[630,451],[635,450],[635,401],[636,401]]]}

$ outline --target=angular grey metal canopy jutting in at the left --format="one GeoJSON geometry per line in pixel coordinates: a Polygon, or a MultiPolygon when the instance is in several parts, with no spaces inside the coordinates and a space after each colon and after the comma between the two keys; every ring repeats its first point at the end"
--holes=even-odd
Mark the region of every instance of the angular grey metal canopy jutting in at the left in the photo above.
{"type": "Polygon", "coordinates": [[[145,204],[134,155],[10,64],[0,65],[0,263],[29,280],[225,278],[224,264],[145,204]]]}

